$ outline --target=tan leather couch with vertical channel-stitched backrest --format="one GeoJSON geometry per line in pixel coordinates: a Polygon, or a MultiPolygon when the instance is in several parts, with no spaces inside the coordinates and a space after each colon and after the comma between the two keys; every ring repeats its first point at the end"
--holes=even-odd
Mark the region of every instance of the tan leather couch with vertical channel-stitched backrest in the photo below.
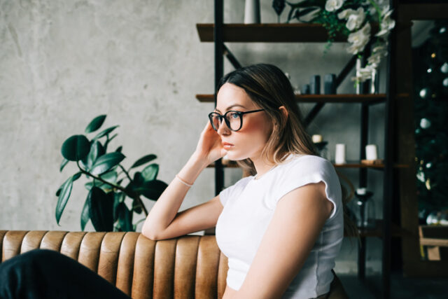
{"type": "MultiPolygon", "coordinates": [[[[78,260],[132,298],[221,298],[225,290],[228,260],[213,235],[0,230],[2,262],[38,248],[78,260]]],[[[346,298],[337,277],[328,298],[346,298]]]]}

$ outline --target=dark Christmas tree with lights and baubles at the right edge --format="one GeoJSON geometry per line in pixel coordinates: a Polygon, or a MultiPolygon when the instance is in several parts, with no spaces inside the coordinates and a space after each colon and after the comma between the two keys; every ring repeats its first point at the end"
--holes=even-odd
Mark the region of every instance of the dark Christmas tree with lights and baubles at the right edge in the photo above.
{"type": "Polygon", "coordinates": [[[413,50],[419,218],[448,209],[448,21],[413,50]]]}

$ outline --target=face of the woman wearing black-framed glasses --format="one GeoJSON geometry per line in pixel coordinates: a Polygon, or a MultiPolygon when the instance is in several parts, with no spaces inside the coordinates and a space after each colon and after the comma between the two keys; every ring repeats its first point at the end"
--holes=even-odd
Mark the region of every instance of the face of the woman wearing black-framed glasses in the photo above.
{"type": "MultiPolygon", "coordinates": [[[[258,109],[260,107],[256,106],[244,89],[237,85],[225,83],[218,91],[215,111],[221,115],[229,110],[244,112],[258,109]]],[[[217,132],[221,136],[223,146],[228,150],[227,155],[230,160],[247,158],[255,160],[260,157],[260,153],[269,139],[272,132],[272,121],[265,111],[247,113],[242,117],[243,125],[237,132],[231,131],[224,120],[217,132]]]]}

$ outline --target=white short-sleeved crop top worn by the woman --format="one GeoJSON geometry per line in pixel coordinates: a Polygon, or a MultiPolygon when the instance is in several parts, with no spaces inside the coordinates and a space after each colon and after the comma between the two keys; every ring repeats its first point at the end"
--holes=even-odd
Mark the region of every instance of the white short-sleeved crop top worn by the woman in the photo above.
{"type": "Polygon", "coordinates": [[[295,188],[320,181],[325,183],[333,209],[282,298],[316,298],[330,291],[331,270],[344,237],[342,192],[335,168],[315,155],[289,155],[284,164],[259,179],[247,176],[219,194],[224,208],[216,223],[216,242],[228,257],[226,281],[230,288],[239,290],[243,284],[281,197],[295,188]]]}

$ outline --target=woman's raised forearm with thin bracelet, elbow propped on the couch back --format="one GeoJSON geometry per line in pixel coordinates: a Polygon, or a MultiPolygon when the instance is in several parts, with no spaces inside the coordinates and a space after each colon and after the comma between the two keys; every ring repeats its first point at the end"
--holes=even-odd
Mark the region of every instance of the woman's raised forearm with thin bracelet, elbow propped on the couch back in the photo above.
{"type": "MultiPolygon", "coordinates": [[[[193,184],[207,164],[204,158],[194,153],[178,175],[186,183],[193,184]]],[[[146,217],[142,228],[146,237],[155,238],[172,223],[188,189],[186,184],[176,178],[169,183],[146,217]]]]}

